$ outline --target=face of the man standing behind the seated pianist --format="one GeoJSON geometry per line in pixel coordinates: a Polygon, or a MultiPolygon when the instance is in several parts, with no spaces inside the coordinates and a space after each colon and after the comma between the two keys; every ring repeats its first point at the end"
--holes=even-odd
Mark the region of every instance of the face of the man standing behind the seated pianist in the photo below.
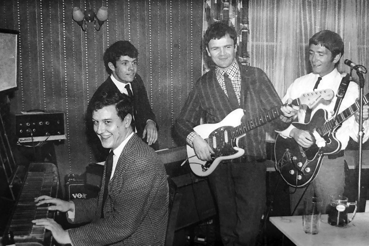
{"type": "Polygon", "coordinates": [[[129,56],[121,56],[115,67],[113,63],[108,63],[109,68],[116,80],[122,83],[132,82],[137,72],[137,58],[131,58],[129,56]]]}

